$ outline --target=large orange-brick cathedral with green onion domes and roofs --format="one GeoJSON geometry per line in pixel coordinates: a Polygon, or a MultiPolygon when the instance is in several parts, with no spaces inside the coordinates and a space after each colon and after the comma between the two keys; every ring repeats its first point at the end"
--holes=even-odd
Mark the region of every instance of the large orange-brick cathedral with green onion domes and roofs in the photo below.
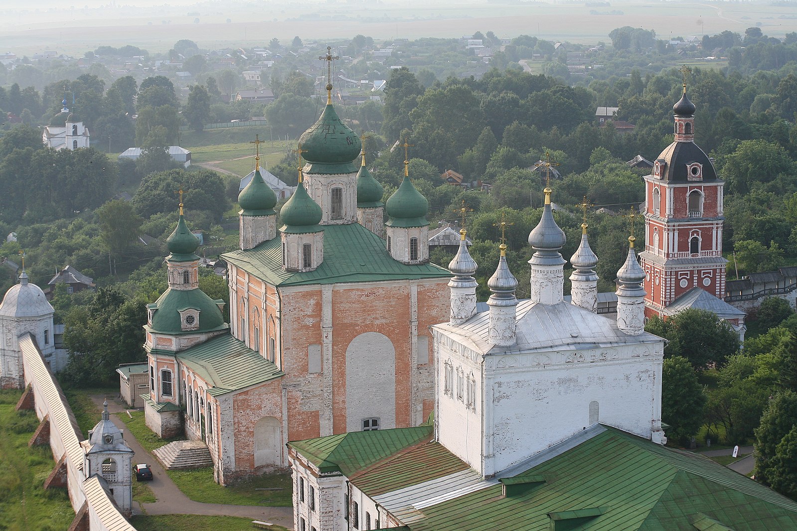
{"type": "Polygon", "coordinates": [[[429,261],[428,201],[405,160],[382,202],[326,88],[279,216],[259,160],[238,196],[240,249],[222,255],[230,323],[198,288],[182,207],[167,239],[169,287],[148,307],[147,426],[204,440],[221,483],[287,467],[289,440],[410,428],[434,410],[430,326],[452,299],[450,272],[429,261]]]}

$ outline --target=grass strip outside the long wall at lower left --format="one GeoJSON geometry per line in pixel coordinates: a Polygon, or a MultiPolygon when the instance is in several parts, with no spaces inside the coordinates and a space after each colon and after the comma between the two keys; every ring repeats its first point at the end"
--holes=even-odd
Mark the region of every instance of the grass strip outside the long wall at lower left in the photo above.
{"type": "Polygon", "coordinates": [[[0,529],[67,529],[75,517],[69,494],[41,488],[55,462],[49,446],[28,447],[39,420],[33,411],[14,411],[20,396],[0,391],[0,529]]]}

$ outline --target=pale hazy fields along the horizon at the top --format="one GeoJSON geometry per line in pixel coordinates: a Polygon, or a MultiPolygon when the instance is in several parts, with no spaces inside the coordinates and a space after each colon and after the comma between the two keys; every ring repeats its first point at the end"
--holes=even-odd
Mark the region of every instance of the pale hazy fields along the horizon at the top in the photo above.
{"type": "Polygon", "coordinates": [[[358,33],[380,40],[461,37],[493,30],[499,37],[528,34],[594,43],[609,41],[609,32],[624,25],[655,29],[665,38],[713,35],[724,29],[744,33],[754,25],[782,37],[797,29],[795,6],[752,2],[611,2],[606,7],[575,2],[406,2],[367,11],[353,2],[305,2],[298,9],[264,10],[253,10],[248,2],[230,2],[223,10],[203,8],[197,23],[187,11],[183,6],[136,9],[124,2],[102,10],[6,9],[0,10],[0,37],[5,49],[18,54],[47,49],[82,54],[97,45],[136,45],[166,52],[180,38],[194,40],[202,48],[220,48],[264,45],[271,37],[286,42],[294,35],[323,43],[358,33]]]}

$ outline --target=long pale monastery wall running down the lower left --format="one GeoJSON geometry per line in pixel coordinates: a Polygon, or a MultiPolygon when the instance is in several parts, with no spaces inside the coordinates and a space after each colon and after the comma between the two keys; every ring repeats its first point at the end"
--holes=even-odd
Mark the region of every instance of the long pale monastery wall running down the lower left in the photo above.
{"type": "MultiPolygon", "coordinates": [[[[60,474],[69,492],[69,501],[78,513],[76,520],[88,519],[90,531],[135,531],[112,502],[112,497],[96,476],[85,479],[84,452],[80,447],[83,434],[69,408],[61,386],[49,372],[33,336],[26,334],[19,340],[25,369],[25,384],[33,394],[33,408],[37,417],[49,422],[49,445],[57,462],[51,478],[60,474]]],[[[24,398],[24,397],[23,397],[24,398]]]]}

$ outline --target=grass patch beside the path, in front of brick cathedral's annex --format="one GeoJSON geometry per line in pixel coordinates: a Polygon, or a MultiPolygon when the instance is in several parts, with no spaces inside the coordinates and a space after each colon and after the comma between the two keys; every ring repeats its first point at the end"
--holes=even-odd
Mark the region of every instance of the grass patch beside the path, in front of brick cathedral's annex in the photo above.
{"type": "Polygon", "coordinates": [[[179,490],[194,502],[271,507],[289,507],[292,503],[290,474],[264,474],[233,486],[221,486],[214,482],[212,467],[167,470],[167,474],[179,490]],[[279,490],[255,490],[264,488],[279,490]]]}

